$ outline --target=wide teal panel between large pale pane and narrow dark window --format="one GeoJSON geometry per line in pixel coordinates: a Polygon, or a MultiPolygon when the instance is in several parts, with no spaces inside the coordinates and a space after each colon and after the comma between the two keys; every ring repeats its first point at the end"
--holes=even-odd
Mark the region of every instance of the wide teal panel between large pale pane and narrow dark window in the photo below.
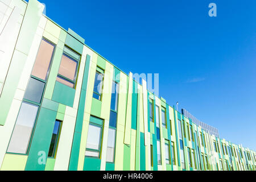
{"type": "Polygon", "coordinates": [[[39,152],[45,152],[47,157],[49,146],[52,139],[52,131],[55,125],[56,111],[41,108],[39,112],[38,122],[36,123],[35,132],[32,138],[30,151],[26,164],[26,171],[36,170],[44,171],[46,164],[39,164],[39,152]],[[43,137],[42,137],[43,134],[43,137]]]}

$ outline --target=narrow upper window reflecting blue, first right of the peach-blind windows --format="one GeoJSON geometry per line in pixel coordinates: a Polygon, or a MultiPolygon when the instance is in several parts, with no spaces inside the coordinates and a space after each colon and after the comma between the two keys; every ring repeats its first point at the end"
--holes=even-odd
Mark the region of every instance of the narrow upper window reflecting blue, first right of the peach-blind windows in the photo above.
{"type": "Polygon", "coordinates": [[[93,98],[96,98],[97,100],[101,100],[103,77],[104,71],[97,67],[93,88],[93,98]]]}

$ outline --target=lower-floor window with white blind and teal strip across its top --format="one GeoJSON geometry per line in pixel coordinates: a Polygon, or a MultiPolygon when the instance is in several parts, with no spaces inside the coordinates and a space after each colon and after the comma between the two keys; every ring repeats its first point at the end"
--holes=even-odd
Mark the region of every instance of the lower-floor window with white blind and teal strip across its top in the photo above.
{"type": "Polygon", "coordinates": [[[102,119],[90,117],[85,156],[100,158],[102,123],[102,119]]]}

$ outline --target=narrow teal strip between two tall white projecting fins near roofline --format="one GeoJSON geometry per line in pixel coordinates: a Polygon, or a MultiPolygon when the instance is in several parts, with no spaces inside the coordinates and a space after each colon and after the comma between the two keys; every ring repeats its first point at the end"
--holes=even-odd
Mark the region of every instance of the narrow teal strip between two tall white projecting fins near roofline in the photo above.
{"type": "Polygon", "coordinates": [[[131,99],[131,129],[137,130],[138,85],[135,81],[133,81],[133,93],[131,99]]]}

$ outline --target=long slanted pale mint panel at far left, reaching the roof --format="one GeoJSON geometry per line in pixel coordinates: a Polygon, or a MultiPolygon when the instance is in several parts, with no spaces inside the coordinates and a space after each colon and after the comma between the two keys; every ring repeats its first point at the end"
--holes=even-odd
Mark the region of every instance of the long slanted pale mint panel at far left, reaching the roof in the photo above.
{"type": "Polygon", "coordinates": [[[16,88],[19,84],[19,79],[17,78],[20,78],[22,74],[24,64],[27,60],[26,56],[30,52],[41,15],[42,10],[39,6],[39,2],[35,0],[29,1],[15,47],[18,49],[16,52],[20,55],[20,59],[16,57],[15,54],[13,55],[5,80],[7,84],[3,85],[2,94],[0,96],[0,125],[5,125],[16,88]]]}

